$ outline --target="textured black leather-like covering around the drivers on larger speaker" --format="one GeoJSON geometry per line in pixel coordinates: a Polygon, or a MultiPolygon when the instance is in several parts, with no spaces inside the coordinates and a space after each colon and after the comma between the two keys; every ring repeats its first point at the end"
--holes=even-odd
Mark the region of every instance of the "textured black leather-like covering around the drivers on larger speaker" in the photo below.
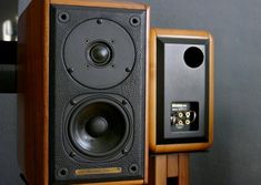
{"type": "MultiPolygon", "coordinates": [[[[145,11],[53,6],[51,7],[50,13],[50,183],[82,183],[142,178],[144,173],[145,123],[145,11]],[[61,12],[67,12],[70,16],[68,22],[59,21],[58,17],[61,12]],[[140,18],[140,25],[132,27],[130,24],[129,20],[133,16],[140,18]],[[83,21],[97,18],[112,20],[123,27],[130,34],[135,49],[135,62],[130,75],[117,86],[106,90],[89,89],[74,81],[69,75],[63,61],[63,44],[71,30],[83,21]],[[64,109],[72,99],[79,95],[97,94],[118,94],[130,102],[133,110],[133,145],[120,160],[78,162],[69,156],[63,146],[62,127],[64,126],[64,117],[67,116],[64,115],[64,109]],[[129,171],[132,164],[138,165],[135,173],[130,173],[129,171]],[[122,173],[74,175],[76,169],[104,167],[121,167],[122,173]],[[61,168],[68,169],[68,175],[64,177],[58,175],[61,168]]],[[[106,31],[107,30],[104,30],[104,32],[106,31]]],[[[78,154],[77,151],[74,152],[78,154]]]]}

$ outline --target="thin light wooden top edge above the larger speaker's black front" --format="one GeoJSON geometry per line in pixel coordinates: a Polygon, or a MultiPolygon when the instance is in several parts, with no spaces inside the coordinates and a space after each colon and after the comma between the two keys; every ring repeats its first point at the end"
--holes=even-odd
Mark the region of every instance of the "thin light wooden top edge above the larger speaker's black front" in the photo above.
{"type": "Polygon", "coordinates": [[[134,2],[113,2],[107,0],[51,0],[52,4],[67,4],[67,6],[88,6],[88,7],[98,7],[98,8],[119,8],[119,9],[135,9],[144,10],[147,9],[145,4],[134,3],[134,2]]]}

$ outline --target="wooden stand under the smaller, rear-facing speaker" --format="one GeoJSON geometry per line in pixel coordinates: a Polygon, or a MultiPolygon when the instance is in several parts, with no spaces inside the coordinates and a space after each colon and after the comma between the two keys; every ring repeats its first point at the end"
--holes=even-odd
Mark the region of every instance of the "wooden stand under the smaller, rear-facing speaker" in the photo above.
{"type": "Polygon", "coordinates": [[[150,156],[150,185],[189,185],[189,154],[150,156]]]}

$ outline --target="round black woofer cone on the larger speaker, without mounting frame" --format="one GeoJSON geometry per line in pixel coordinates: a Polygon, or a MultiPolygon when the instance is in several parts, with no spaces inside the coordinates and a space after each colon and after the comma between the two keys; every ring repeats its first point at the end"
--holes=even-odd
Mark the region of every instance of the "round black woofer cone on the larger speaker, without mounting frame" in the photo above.
{"type": "Polygon", "coordinates": [[[74,109],[69,120],[69,137],[87,157],[109,158],[121,153],[131,136],[131,119],[114,100],[94,99],[74,109]]]}

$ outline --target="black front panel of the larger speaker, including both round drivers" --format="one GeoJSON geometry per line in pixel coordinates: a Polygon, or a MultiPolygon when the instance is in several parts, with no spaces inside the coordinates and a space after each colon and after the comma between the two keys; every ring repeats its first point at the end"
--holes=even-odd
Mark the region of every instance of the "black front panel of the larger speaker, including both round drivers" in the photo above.
{"type": "Polygon", "coordinates": [[[147,11],[50,11],[50,183],[142,179],[147,11]]]}

